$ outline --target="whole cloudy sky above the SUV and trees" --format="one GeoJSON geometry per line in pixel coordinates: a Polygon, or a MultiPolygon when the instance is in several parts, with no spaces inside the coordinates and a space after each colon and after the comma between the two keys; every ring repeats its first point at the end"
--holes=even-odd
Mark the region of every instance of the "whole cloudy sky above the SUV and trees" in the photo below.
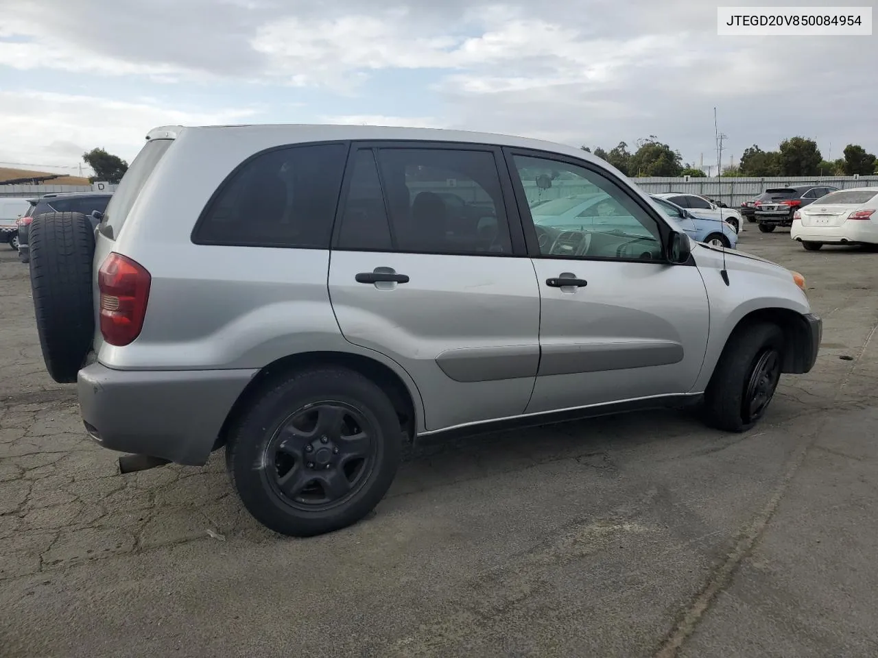
{"type": "Polygon", "coordinates": [[[30,168],[224,123],[654,134],[697,164],[716,161],[714,106],[723,164],[797,134],[824,157],[878,151],[878,37],[720,38],[704,0],[0,0],[0,16],[0,161],[30,168]]]}

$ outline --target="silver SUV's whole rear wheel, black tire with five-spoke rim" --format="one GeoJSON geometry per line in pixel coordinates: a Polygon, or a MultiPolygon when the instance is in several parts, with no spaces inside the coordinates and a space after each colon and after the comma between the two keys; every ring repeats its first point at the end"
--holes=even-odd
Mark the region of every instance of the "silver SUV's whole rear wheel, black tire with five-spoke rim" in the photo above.
{"type": "Polygon", "coordinates": [[[399,468],[402,439],[399,417],[377,384],[347,368],[313,368],[263,386],[229,433],[226,464],[256,520],[277,533],[310,537],[350,526],[378,504],[399,468]],[[341,425],[332,422],[338,416],[341,425]],[[299,429],[284,430],[296,418],[303,419],[299,429]],[[345,435],[348,430],[366,436],[369,447],[345,435]],[[362,461],[350,458],[356,447],[368,454],[362,461]],[[297,482],[306,484],[293,486],[297,482]],[[332,483],[343,491],[335,500],[332,483]]]}

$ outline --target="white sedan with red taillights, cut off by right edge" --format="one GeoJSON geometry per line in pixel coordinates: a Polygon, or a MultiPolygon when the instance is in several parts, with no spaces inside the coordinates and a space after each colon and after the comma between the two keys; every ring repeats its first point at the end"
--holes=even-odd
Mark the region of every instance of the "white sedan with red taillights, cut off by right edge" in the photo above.
{"type": "Polygon", "coordinates": [[[795,211],[789,235],[809,251],[824,245],[878,245],[878,188],[838,190],[795,211]]]}

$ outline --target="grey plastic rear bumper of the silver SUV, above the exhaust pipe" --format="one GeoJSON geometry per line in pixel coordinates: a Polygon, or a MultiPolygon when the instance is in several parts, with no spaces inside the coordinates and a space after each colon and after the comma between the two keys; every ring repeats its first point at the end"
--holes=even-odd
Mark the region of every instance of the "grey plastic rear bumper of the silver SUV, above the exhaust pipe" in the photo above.
{"type": "Polygon", "coordinates": [[[100,445],[201,466],[228,412],[256,370],[79,371],[83,422],[100,445]]]}

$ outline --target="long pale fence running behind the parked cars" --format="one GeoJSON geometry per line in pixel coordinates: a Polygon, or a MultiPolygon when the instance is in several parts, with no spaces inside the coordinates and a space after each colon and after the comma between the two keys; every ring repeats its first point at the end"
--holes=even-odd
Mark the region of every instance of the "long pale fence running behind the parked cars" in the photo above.
{"type": "MultiPolygon", "coordinates": [[[[661,192],[690,192],[693,194],[701,194],[705,197],[722,201],[730,206],[740,205],[744,201],[748,201],[759,196],[762,192],[769,188],[786,187],[788,185],[831,185],[839,189],[853,187],[878,187],[878,176],[861,176],[854,178],[853,176],[821,176],[815,178],[632,178],[633,182],[644,190],[653,194],[661,192]]],[[[549,190],[539,190],[538,195],[541,198],[557,198],[574,194],[575,186],[564,183],[573,183],[572,181],[556,181],[549,190]]],[[[0,197],[41,197],[50,192],[90,192],[97,191],[98,186],[103,186],[100,191],[116,190],[116,185],[107,183],[95,183],[94,185],[0,185],[0,197]]],[[[456,191],[458,196],[467,196],[461,194],[464,186],[459,186],[456,191]]],[[[530,187],[530,185],[526,185],[530,187]]],[[[533,192],[537,192],[536,183],[534,190],[528,190],[529,197],[533,192]]],[[[467,198],[467,201],[477,199],[467,198]]],[[[478,199],[479,201],[481,199],[478,199]]]]}

